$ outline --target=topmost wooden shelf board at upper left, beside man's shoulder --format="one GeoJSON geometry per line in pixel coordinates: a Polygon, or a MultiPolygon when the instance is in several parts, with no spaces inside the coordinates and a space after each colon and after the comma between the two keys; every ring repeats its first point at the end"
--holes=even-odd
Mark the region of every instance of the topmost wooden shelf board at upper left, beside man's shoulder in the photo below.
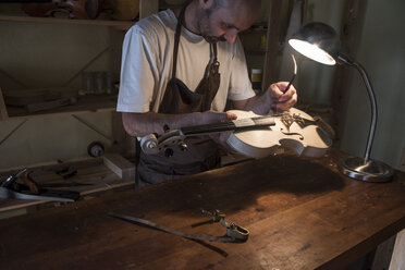
{"type": "Polygon", "coordinates": [[[97,25],[112,26],[120,29],[128,29],[136,22],[133,21],[110,21],[110,20],[76,20],[76,19],[58,19],[58,17],[34,17],[24,15],[0,15],[0,21],[16,23],[40,23],[40,24],[78,24],[78,25],[97,25]]]}

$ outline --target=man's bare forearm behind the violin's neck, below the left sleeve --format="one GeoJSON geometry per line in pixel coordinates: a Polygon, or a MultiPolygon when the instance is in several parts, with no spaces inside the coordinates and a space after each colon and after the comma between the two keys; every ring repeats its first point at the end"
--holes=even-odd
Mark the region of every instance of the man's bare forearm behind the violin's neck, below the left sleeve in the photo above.
{"type": "Polygon", "coordinates": [[[218,123],[228,120],[226,113],[220,112],[192,112],[182,114],[162,114],[156,112],[123,112],[122,122],[126,133],[131,136],[144,136],[151,133],[162,134],[164,125],[170,130],[184,126],[218,123]]]}

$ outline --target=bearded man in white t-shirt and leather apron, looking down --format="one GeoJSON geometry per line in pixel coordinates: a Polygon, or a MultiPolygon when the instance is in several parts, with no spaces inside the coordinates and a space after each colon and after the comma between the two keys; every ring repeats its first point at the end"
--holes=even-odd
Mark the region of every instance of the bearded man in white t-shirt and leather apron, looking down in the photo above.
{"type": "MultiPolygon", "coordinates": [[[[131,136],[235,120],[233,109],[267,114],[297,100],[286,82],[255,96],[237,34],[249,28],[260,0],[193,0],[140,20],[125,35],[116,110],[131,136]]],[[[137,140],[138,142],[138,140],[137,140]]],[[[220,164],[219,146],[209,136],[186,139],[187,151],[145,155],[137,147],[137,184],[170,181],[220,164]]]]}

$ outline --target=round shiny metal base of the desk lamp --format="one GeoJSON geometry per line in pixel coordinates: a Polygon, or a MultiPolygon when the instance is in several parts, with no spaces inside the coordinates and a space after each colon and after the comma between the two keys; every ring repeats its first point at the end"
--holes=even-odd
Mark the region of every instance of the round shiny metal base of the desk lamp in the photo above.
{"type": "Polygon", "coordinates": [[[388,182],[394,174],[394,170],[381,161],[358,157],[341,159],[338,168],[343,174],[365,182],[388,182]]]}

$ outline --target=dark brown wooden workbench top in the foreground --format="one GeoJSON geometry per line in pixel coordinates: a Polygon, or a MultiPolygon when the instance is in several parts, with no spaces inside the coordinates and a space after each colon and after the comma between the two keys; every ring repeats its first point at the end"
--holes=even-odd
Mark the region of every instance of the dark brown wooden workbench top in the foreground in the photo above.
{"type": "Polygon", "coordinates": [[[405,228],[405,175],[371,184],[321,159],[269,157],[0,221],[2,269],[342,269],[405,228]],[[223,235],[200,209],[247,228],[202,245],[108,216],[223,235]]]}

